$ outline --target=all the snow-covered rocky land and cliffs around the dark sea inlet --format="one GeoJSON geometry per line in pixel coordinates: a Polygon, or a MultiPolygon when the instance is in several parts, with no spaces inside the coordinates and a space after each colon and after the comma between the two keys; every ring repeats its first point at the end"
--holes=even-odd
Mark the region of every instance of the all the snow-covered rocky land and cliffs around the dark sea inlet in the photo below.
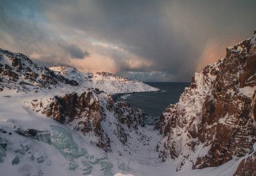
{"type": "Polygon", "coordinates": [[[143,110],[109,95],[154,88],[106,72],[53,71],[0,50],[1,170],[40,176],[255,175],[255,38],[227,48],[226,57],[195,73],[155,130],[145,125],[143,110]],[[134,84],[140,86],[129,88],[134,84]]]}

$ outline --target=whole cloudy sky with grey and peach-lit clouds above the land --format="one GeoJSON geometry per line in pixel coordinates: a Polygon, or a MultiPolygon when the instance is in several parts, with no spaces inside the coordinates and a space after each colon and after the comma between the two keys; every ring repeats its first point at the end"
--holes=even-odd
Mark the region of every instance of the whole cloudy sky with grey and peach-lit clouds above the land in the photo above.
{"type": "Polygon", "coordinates": [[[255,0],[0,3],[0,48],[140,81],[188,82],[256,29],[255,0]]]}

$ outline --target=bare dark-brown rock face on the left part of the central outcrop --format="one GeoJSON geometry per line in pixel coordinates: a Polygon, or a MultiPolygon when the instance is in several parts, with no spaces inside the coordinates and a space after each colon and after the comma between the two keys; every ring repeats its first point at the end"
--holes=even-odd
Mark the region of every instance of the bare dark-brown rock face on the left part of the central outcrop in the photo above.
{"type": "Polygon", "coordinates": [[[84,92],[81,95],[73,93],[63,97],[55,96],[53,102],[46,106],[42,113],[62,124],[77,121],[73,130],[79,130],[83,133],[93,132],[99,137],[99,141],[95,145],[109,151],[111,150],[109,138],[100,125],[102,115],[99,101],[95,100],[93,104],[90,104],[93,95],[95,95],[95,92],[84,92]]]}

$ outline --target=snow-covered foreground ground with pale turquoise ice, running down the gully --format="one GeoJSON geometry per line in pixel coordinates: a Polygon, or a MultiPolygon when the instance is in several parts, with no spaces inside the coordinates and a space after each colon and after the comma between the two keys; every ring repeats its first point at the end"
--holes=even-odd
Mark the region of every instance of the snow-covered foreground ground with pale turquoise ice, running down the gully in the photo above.
{"type": "Polygon", "coordinates": [[[111,137],[113,152],[105,153],[90,144],[89,136],[35,113],[24,104],[26,99],[42,96],[46,95],[15,90],[1,92],[1,175],[232,175],[243,159],[201,170],[183,166],[176,172],[182,158],[161,162],[156,153],[161,135],[153,126],[140,127],[140,135],[131,132],[129,147],[111,137]],[[37,135],[34,138],[26,136],[24,132],[28,129],[37,130],[37,135]]]}

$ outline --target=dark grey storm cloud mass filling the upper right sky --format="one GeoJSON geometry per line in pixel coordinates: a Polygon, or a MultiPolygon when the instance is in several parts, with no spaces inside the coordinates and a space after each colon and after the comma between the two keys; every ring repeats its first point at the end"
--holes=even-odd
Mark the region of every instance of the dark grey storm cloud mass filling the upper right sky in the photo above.
{"type": "MultiPolygon", "coordinates": [[[[120,45],[154,61],[154,70],[182,80],[195,71],[206,42],[244,39],[255,27],[255,1],[75,1],[51,8],[44,1],[44,5],[48,19],[120,45]]],[[[121,66],[138,71],[123,62],[121,66]]]]}

